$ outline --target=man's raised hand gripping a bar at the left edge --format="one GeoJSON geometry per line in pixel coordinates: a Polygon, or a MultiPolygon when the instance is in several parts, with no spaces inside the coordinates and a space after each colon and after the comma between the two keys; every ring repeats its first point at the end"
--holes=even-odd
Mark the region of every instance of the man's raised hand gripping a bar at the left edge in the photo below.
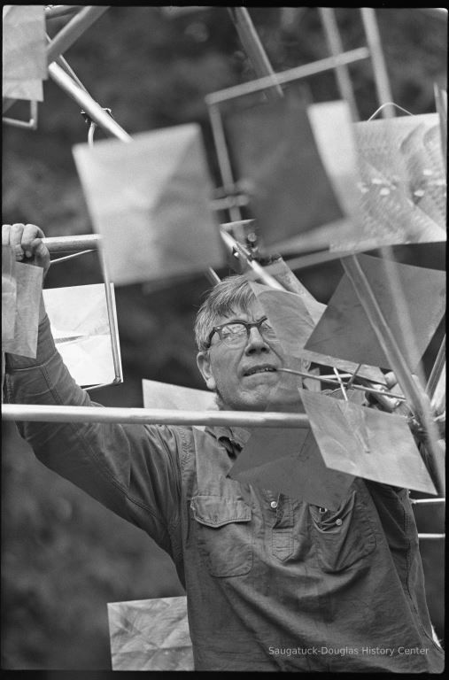
{"type": "Polygon", "coordinates": [[[50,252],[43,244],[43,230],[35,224],[4,224],[2,245],[11,245],[19,262],[43,267],[43,278],[50,267],[50,252]]]}

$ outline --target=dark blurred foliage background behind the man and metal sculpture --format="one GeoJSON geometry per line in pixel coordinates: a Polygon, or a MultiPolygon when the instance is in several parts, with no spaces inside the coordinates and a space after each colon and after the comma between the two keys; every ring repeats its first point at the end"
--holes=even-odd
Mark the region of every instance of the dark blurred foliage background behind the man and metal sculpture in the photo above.
{"type": "MultiPolygon", "coordinates": [[[[275,71],[328,56],[316,8],[250,12],[275,71]]],[[[446,86],[445,20],[411,8],[377,9],[376,15],[394,101],[414,114],[434,112],[433,84],[446,86]]],[[[345,49],[365,44],[357,8],[337,8],[337,19],[345,49]]],[[[50,34],[64,22],[51,21],[50,34]]],[[[225,7],[179,14],[168,6],[112,6],[65,57],[131,135],[198,122],[220,185],[204,97],[255,77],[225,7]]],[[[378,106],[369,62],[351,66],[351,74],[364,120],[378,106]]],[[[317,102],[338,97],[331,73],[303,87],[317,102]]],[[[21,104],[15,114],[26,115],[21,104]]],[[[103,136],[97,131],[97,139],[103,136]]],[[[4,126],[4,222],[34,222],[46,236],[90,233],[72,156],[72,146],[86,141],[77,104],[45,82],[38,129],[4,126]]],[[[402,261],[444,266],[441,252],[425,257],[421,261],[419,253],[399,249],[402,261]]],[[[300,274],[321,302],[329,300],[340,275],[337,264],[300,274]]],[[[46,285],[100,280],[94,254],[52,267],[46,285]]],[[[198,276],[161,283],[153,292],[142,286],[117,289],[124,383],[98,390],[95,399],[108,406],[143,406],[142,378],[202,388],[191,327],[209,287],[198,276]]],[[[426,355],[427,368],[435,346],[426,355]]],[[[143,532],[36,462],[15,426],[4,423],[2,441],[2,668],[111,668],[106,603],[182,594],[174,568],[143,532]]],[[[439,510],[421,511],[418,521],[422,530],[443,530],[439,510]]],[[[442,636],[441,543],[422,544],[422,554],[432,618],[442,636]]]]}

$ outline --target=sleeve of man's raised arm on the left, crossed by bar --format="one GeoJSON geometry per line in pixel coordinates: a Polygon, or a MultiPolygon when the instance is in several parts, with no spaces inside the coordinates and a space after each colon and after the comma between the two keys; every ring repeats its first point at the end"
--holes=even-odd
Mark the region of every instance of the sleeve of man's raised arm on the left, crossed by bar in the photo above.
{"type": "MultiPolygon", "coordinates": [[[[46,316],[36,359],[6,355],[14,404],[102,406],[74,382],[46,316]]],[[[20,421],[19,432],[45,466],[145,530],[168,553],[180,523],[182,438],[177,428],[99,422],[20,421]]]]}

